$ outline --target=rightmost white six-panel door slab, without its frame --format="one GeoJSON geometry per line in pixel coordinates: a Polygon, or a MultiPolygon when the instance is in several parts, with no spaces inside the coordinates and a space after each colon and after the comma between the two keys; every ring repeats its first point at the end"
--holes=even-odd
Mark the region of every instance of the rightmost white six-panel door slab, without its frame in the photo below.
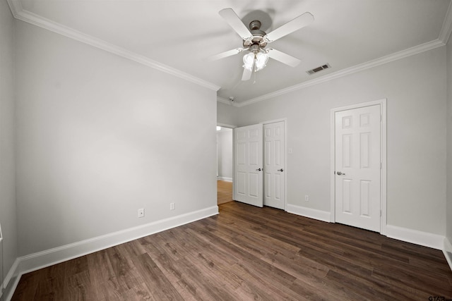
{"type": "Polygon", "coordinates": [[[380,231],[380,105],[335,113],[335,221],[380,231]]]}

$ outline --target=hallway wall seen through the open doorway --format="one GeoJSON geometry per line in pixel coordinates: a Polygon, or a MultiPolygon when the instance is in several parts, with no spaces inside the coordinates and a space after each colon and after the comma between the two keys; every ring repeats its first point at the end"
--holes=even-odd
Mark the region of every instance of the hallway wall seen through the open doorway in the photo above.
{"type": "Polygon", "coordinates": [[[223,128],[217,133],[218,178],[232,180],[232,129],[223,128]]]}

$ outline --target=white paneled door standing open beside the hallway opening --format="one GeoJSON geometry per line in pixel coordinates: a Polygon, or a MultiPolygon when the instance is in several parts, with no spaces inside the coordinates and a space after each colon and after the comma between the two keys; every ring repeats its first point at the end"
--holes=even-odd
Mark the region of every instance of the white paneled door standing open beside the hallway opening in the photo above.
{"type": "Polygon", "coordinates": [[[234,128],[234,199],[263,207],[262,125],[234,128]]]}

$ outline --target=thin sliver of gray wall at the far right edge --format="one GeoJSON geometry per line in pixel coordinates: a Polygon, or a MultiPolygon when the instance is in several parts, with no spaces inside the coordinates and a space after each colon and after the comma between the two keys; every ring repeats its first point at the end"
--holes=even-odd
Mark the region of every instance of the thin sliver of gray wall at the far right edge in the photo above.
{"type": "Polygon", "coordinates": [[[446,237],[452,242],[452,39],[447,44],[447,211],[446,237]]]}

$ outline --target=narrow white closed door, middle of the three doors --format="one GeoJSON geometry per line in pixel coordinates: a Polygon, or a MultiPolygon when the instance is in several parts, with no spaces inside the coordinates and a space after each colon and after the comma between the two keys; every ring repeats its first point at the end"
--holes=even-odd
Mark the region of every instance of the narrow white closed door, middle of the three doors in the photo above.
{"type": "Polygon", "coordinates": [[[285,209],[284,121],[263,125],[263,204],[285,209]]]}

